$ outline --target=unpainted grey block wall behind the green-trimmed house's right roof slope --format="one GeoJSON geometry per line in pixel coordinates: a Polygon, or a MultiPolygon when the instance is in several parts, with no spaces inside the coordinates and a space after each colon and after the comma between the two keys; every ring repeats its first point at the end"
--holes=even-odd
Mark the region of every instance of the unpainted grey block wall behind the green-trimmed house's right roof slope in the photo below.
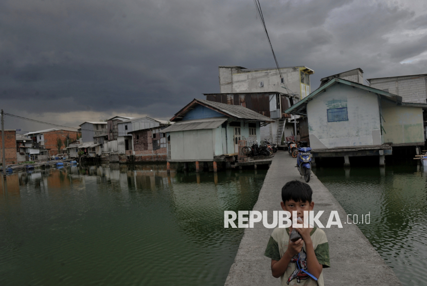
{"type": "Polygon", "coordinates": [[[403,102],[426,103],[427,76],[371,79],[370,86],[402,97],[403,102]]]}

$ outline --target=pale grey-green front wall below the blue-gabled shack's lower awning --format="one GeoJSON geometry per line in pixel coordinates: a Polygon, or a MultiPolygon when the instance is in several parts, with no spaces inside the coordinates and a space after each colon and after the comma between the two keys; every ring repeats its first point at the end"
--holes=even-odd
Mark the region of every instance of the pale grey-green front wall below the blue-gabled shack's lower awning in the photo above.
{"type": "Polygon", "coordinates": [[[212,129],[170,132],[171,159],[213,159],[212,129]]]}

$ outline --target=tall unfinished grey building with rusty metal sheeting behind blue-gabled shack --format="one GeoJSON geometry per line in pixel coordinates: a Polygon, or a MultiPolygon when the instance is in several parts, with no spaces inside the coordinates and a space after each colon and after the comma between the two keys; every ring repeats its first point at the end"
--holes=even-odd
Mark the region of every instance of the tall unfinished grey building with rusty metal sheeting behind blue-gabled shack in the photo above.
{"type": "MultiPolygon", "coordinates": [[[[261,139],[276,144],[295,135],[293,120],[283,111],[311,93],[310,75],[314,71],[306,66],[247,69],[241,66],[220,66],[221,94],[205,94],[206,99],[221,103],[242,105],[274,119],[261,126],[261,139]],[[281,74],[281,76],[280,76],[281,74]]],[[[300,138],[302,138],[300,136],[300,138]]]]}

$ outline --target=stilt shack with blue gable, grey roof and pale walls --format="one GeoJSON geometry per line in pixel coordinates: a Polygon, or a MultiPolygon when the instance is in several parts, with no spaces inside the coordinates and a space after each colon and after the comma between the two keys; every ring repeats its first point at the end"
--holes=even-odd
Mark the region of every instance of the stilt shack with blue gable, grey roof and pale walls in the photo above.
{"type": "Polygon", "coordinates": [[[274,120],[241,105],[193,99],[170,121],[163,130],[168,162],[221,163],[237,155],[240,140],[260,141],[260,126],[274,120]]]}

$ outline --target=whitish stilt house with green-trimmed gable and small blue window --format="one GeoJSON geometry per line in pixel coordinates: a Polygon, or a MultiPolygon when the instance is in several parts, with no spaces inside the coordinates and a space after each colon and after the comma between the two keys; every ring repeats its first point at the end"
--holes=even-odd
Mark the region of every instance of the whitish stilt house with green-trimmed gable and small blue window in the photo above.
{"type": "Polygon", "coordinates": [[[391,155],[393,147],[423,146],[423,110],[427,104],[360,83],[332,78],[286,113],[308,118],[314,157],[391,155]]]}

